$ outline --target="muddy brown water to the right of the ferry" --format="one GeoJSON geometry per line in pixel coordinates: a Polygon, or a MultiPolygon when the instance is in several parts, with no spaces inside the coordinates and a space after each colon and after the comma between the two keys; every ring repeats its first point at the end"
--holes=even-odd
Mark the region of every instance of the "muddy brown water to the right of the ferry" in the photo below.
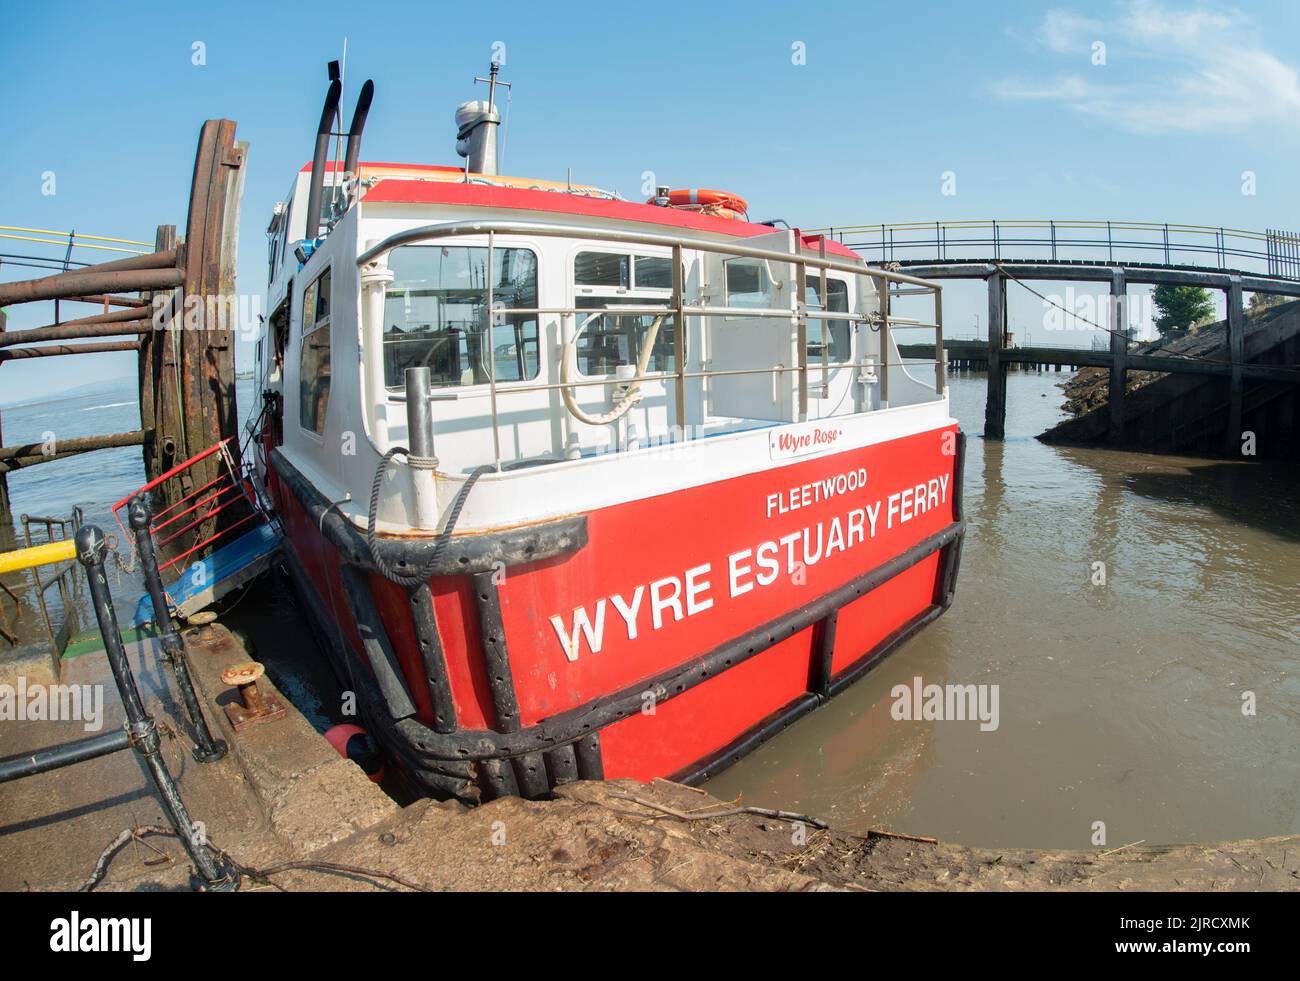
{"type": "Polygon", "coordinates": [[[953,381],[952,609],[707,790],[992,847],[1300,832],[1300,470],[1039,443],[1066,377],[1009,376],[1001,443],[953,381]],[[896,720],[915,677],[997,685],[997,729],[896,720]]]}

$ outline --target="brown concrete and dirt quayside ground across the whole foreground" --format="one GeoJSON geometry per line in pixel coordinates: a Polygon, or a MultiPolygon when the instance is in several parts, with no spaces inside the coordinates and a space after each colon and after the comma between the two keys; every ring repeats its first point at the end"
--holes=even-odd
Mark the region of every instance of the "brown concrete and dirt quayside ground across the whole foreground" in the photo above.
{"type": "MultiPolygon", "coordinates": [[[[186,644],[207,704],[229,699],[217,676],[246,648],[220,626],[188,631],[186,644]]],[[[133,651],[152,682],[151,711],[182,732],[156,656],[147,646],[133,651]]],[[[98,674],[94,659],[78,659],[77,677],[98,674]]],[[[291,707],[286,719],[239,734],[225,712],[211,721],[231,754],[200,767],[177,745],[169,765],[209,842],[244,868],[243,891],[1300,890],[1300,835],[1096,852],[970,848],[737,812],[744,802],[668,781],[578,782],[551,800],[476,808],[398,807],[291,707]]],[[[32,745],[49,732],[6,730],[32,745]]],[[[134,759],[78,764],[72,776],[9,787],[21,793],[5,798],[0,889],[74,890],[96,863],[104,869],[96,889],[188,887],[185,852],[165,834],[127,835],[109,859],[101,855],[126,829],[165,825],[134,759]]]]}

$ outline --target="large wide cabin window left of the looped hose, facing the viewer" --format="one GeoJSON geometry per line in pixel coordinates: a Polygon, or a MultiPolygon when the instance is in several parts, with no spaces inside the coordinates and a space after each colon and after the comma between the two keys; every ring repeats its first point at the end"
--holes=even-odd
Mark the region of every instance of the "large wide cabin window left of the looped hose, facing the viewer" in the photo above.
{"type": "MultiPolygon", "coordinates": [[[[537,377],[537,314],[495,313],[486,337],[488,249],[402,246],[389,253],[384,299],[384,383],[406,385],[406,369],[428,366],[439,387],[537,377]],[[490,364],[488,348],[491,348],[490,364]]],[[[537,307],[537,256],[493,249],[493,309],[537,307]]]]}

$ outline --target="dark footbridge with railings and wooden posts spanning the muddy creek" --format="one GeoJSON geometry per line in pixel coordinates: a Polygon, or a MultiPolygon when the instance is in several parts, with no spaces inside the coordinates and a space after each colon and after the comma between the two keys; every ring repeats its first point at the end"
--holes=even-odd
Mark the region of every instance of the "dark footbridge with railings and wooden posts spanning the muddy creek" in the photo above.
{"type": "MultiPolygon", "coordinates": [[[[870,265],[902,268],[927,279],[984,279],[988,283],[988,399],[984,417],[988,438],[1000,439],[1005,431],[1006,368],[1011,364],[1106,368],[1110,373],[1109,439],[1113,443],[1126,442],[1126,378],[1130,370],[1222,378],[1226,385],[1223,450],[1228,452],[1239,452],[1248,382],[1254,387],[1271,385],[1277,391],[1290,394],[1300,386],[1295,338],[1287,335],[1270,347],[1253,346],[1247,351],[1244,305],[1244,294],[1248,292],[1300,296],[1300,233],[1296,231],[1028,218],[915,221],[816,231],[849,246],[870,265]],[[1127,330],[1091,322],[1109,333],[1108,351],[1010,347],[1008,283],[1052,303],[1031,285],[1034,281],[1108,285],[1110,325],[1119,326],[1127,324],[1130,285],[1219,290],[1227,305],[1226,351],[1214,356],[1134,355],[1130,353],[1132,339],[1127,330]]],[[[1063,312],[1078,317],[1071,311],[1063,312]]],[[[941,359],[944,353],[935,351],[933,356],[941,359]]],[[[1294,416],[1294,409],[1288,414],[1294,416]]],[[[1288,424],[1288,431],[1291,429],[1288,424]]]]}

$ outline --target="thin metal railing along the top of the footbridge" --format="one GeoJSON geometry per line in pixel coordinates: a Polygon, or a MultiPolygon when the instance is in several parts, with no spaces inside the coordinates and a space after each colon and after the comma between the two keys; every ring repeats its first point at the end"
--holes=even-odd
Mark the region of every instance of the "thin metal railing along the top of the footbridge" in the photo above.
{"type": "Polygon", "coordinates": [[[1232,269],[1300,279],[1300,233],[1145,221],[909,221],[815,229],[871,262],[1087,261],[1232,269]]]}

